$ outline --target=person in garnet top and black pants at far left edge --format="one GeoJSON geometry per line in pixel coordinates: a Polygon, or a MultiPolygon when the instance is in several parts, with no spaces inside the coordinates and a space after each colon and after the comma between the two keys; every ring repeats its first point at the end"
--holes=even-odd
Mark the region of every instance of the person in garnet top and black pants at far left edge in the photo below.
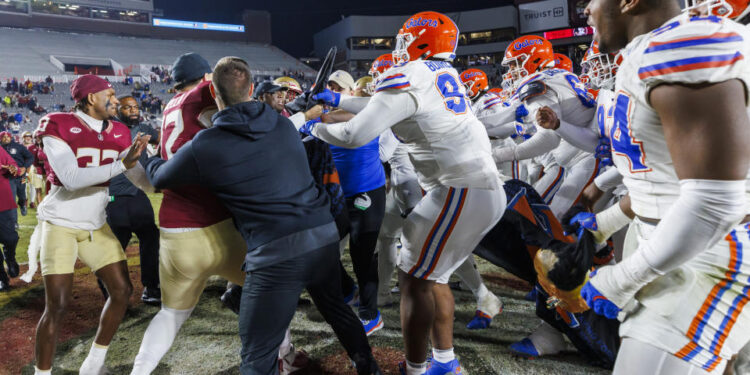
{"type": "MultiPolygon", "coordinates": [[[[16,201],[10,191],[10,179],[17,172],[16,161],[13,160],[5,150],[0,149],[0,244],[5,249],[12,248],[15,251],[18,244],[18,232],[16,232],[13,214],[16,211],[16,201]]],[[[16,264],[16,267],[18,265],[16,264]]],[[[8,265],[10,268],[10,265],[8,265]]],[[[0,252],[0,292],[10,289],[10,280],[3,266],[3,254],[0,252]]]]}

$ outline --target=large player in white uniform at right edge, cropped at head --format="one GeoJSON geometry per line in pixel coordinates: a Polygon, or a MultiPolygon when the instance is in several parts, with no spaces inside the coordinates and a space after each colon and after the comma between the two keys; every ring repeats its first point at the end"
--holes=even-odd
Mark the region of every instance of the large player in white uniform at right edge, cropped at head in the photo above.
{"type": "Polygon", "coordinates": [[[720,374],[750,339],[750,34],[667,0],[593,0],[585,14],[602,52],[625,51],[610,137],[637,217],[624,260],[581,294],[622,320],[615,374],[720,374]]]}

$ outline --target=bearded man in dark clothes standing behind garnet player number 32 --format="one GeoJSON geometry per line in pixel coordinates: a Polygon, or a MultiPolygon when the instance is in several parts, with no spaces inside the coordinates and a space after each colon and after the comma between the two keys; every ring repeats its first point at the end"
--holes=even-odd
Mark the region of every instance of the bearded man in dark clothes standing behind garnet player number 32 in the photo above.
{"type": "MultiPolygon", "coordinates": [[[[118,118],[130,129],[131,137],[138,133],[151,136],[149,143],[159,144],[159,132],[140,122],[138,102],[132,96],[118,99],[118,118]]],[[[141,164],[148,157],[141,155],[141,164]]],[[[125,176],[117,176],[109,183],[109,204],[107,204],[107,224],[120,241],[123,250],[128,246],[133,233],[138,237],[138,250],[141,258],[141,283],[144,303],[161,303],[159,290],[159,228],[154,221],[154,209],[146,193],[133,185],[125,176]]]]}

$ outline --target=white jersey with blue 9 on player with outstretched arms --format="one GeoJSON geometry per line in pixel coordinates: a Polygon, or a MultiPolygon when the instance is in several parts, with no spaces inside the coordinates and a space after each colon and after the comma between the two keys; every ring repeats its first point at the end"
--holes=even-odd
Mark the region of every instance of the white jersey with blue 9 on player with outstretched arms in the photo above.
{"type": "Polygon", "coordinates": [[[408,92],[417,103],[416,113],[391,129],[409,144],[422,187],[502,186],[487,132],[450,63],[417,60],[394,66],[376,82],[375,95],[383,90],[408,92]]]}

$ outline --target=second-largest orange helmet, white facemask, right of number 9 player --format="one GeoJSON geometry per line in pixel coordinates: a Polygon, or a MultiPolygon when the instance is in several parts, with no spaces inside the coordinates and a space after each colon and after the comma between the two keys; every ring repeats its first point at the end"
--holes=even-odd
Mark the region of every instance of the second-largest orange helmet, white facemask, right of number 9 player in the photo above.
{"type": "Polygon", "coordinates": [[[537,35],[522,36],[508,45],[502,65],[508,67],[510,84],[515,89],[524,77],[555,66],[552,43],[537,35]]]}

